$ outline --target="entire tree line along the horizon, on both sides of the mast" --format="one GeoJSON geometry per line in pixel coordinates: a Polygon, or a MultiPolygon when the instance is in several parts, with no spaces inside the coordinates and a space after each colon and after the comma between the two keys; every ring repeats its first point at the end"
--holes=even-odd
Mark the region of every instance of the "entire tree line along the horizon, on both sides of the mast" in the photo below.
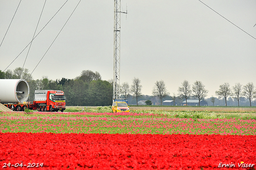
{"type": "MultiPolygon", "coordinates": [[[[34,80],[30,75],[28,69],[22,69],[17,67],[16,69],[7,70],[2,72],[0,70],[0,79],[25,79],[28,81],[30,87],[30,101],[34,99],[34,90],[62,90],[64,91],[68,106],[105,106],[112,104],[113,95],[113,80],[102,80],[100,73],[90,70],[83,70],[79,76],[74,79],[62,78],[49,80],[48,77],[42,77],[42,79],[34,80]]],[[[163,80],[156,81],[152,88],[152,97],[158,97],[160,104],[162,105],[163,99],[172,100],[185,100],[187,105],[188,99],[198,99],[200,101],[205,99],[208,94],[208,90],[205,89],[204,84],[201,81],[195,81],[192,85],[184,80],[180,87],[178,87],[178,94],[170,93],[167,90],[166,84],[163,80]]],[[[224,99],[227,106],[227,99],[230,97],[238,102],[243,98],[248,99],[250,106],[252,106],[252,100],[256,98],[256,88],[252,82],[242,85],[236,83],[233,87],[230,87],[229,83],[224,83],[219,86],[219,89],[215,91],[218,99],[224,99]]],[[[120,85],[120,95],[122,98],[130,98],[132,101],[145,98],[142,95],[142,85],[139,78],[134,77],[132,79],[132,85],[128,82],[120,85]]],[[[146,95],[148,96],[148,95],[146,95]]],[[[148,96],[150,97],[150,96],[148,96]]],[[[216,98],[211,97],[210,102],[214,105],[216,98]]],[[[150,104],[150,101],[147,101],[150,104]]]]}

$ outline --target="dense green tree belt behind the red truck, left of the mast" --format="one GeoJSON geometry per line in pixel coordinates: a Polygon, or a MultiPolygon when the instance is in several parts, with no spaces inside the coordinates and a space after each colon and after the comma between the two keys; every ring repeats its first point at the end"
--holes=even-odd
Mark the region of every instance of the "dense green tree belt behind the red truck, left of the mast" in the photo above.
{"type": "Polygon", "coordinates": [[[34,80],[28,69],[18,67],[6,72],[0,71],[2,79],[25,79],[30,87],[30,101],[35,90],[62,90],[68,106],[107,106],[112,104],[113,86],[110,81],[101,79],[100,73],[83,70],[75,79],[62,78],[49,80],[48,77],[34,80]]]}

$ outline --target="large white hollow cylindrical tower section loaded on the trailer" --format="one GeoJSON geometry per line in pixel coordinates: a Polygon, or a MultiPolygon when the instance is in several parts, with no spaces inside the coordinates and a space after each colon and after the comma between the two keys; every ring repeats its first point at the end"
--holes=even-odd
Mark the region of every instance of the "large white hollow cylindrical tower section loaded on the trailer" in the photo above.
{"type": "Polygon", "coordinates": [[[28,100],[29,86],[24,79],[0,79],[1,103],[23,103],[28,100]]]}

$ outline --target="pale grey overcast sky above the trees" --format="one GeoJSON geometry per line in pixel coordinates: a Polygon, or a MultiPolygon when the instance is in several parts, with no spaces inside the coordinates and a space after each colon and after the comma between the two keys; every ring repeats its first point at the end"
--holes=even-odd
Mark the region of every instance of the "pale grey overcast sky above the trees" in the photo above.
{"type": "MultiPolygon", "coordinates": [[[[0,0],[0,42],[20,0],[0,0]]],[[[36,34],[66,0],[46,1],[36,34]]],[[[30,72],[60,32],[78,4],[69,0],[34,39],[25,68],[30,72]]],[[[202,81],[215,95],[219,85],[256,85],[255,0],[122,0],[128,14],[121,18],[121,83],[141,80],[142,93],[151,95],[154,83],[163,80],[168,91],[178,93],[182,81],[202,81]],[[249,36],[230,22],[253,36],[249,36]]],[[[32,40],[44,0],[23,0],[0,47],[0,70],[32,40]]],[[[73,79],[82,70],[98,71],[113,79],[114,1],[82,0],[60,35],[32,73],[73,79]]],[[[28,48],[8,67],[22,67],[28,48]]]]}

